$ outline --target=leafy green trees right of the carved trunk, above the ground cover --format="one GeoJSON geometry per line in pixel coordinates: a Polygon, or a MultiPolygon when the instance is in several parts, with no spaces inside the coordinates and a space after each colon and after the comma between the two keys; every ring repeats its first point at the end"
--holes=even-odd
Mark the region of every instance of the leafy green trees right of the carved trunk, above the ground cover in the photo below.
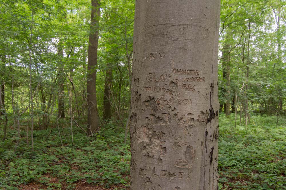
{"type": "Polygon", "coordinates": [[[221,1],[221,105],[237,94],[239,109],[245,111],[247,104],[250,113],[285,115],[285,5],[280,0],[221,1]]]}

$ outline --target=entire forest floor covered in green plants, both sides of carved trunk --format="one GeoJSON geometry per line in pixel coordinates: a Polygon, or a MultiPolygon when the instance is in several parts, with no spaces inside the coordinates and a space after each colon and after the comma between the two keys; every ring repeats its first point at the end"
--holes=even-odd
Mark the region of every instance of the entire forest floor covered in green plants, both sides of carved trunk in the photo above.
{"type": "MultiPolygon", "coordinates": [[[[220,189],[286,189],[286,118],[252,116],[236,128],[234,120],[219,118],[220,189]]],[[[34,131],[33,152],[26,124],[16,152],[17,132],[8,129],[0,142],[0,189],[129,189],[130,145],[122,128],[108,122],[96,137],[74,128],[72,142],[69,121],[59,122],[59,129],[34,131]]]]}

